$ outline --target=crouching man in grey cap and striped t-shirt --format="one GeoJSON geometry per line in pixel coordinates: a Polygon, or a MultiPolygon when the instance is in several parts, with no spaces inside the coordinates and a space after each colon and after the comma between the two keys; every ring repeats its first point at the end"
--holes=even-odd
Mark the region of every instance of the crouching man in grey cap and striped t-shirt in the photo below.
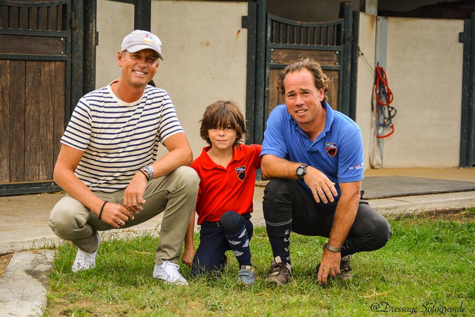
{"type": "Polygon", "coordinates": [[[157,72],[161,42],[135,30],[122,42],[120,79],[79,101],[61,138],[54,181],[68,195],[49,226],[78,247],[73,272],[95,267],[98,231],[128,228],[164,211],[153,277],[188,285],[178,259],[199,178],[186,166],[190,144],[167,92],[147,85],[157,72]],[[168,153],[157,159],[159,144],[168,153]]]}

